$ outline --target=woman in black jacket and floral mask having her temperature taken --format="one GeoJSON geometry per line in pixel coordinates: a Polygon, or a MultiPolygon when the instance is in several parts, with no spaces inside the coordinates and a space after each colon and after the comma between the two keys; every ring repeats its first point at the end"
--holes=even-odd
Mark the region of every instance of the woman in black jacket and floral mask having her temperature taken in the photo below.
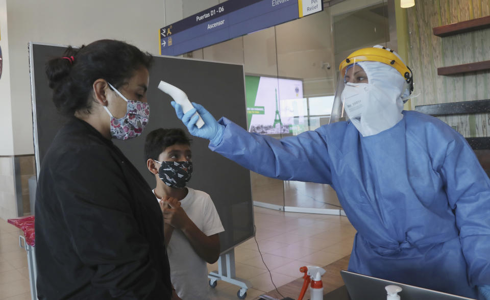
{"type": "Polygon", "coordinates": [[[152,57],[95,41],[46,64],[70,116],[45,155],[36,194],[40,299],[170,299],[163,219],[151,188],[111,138],[141,134],[152,57]]]}

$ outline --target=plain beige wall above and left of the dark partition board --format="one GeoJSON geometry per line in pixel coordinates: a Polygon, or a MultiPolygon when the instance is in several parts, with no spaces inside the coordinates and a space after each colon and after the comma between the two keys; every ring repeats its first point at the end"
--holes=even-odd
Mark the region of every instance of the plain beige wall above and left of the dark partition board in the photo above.
{"type": "Polygon", "coordinates": [[[165,12],[164,0],[0,0],[0,45],[4,57],[7,56],[7,64],[4,64],[7,73],[4,76],[8,74],[8,63],[11,71],[10,95],[4,91],[8,76],[2,76],[0,80],[0,104],[4,112],[7,111],[7,116],[0,118],[0,128],[7,132],[0,135],[0,156],[34,153],[29,41],[81,45],[111,38],[125,40],[144,51],[158,54],[158,30],[165,26],[165,15],[173,16],[176,18],[174,21],[182,18],[179,1],[167,2],[173,3],[174,11],[165,12]],[[5,8],[2,9],[5,3],[7,18],[5,8]],[[8,23],[4,24],[5,20],[8,23]],[[7,47],[3,45],[7,35],[10,55],[6,55],[7,47]],[[11,115],[8,113],[9,104],[11,115]],[[9,143],[13,143],[13,147],[9,143]]]}

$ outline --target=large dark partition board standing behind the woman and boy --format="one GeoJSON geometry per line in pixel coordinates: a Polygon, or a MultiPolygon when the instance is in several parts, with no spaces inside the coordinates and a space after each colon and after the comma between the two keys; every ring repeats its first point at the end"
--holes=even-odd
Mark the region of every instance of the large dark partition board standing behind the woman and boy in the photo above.
{"type": "MultiPolygon", "coordinates": [[[[36,156],[40,162],[59,128],[66,121],[52,101],[52,90],[47,85],[44,64],[52,57],[59,57],[64,46],[33,44],[31,48],[34,74],[34,122],[36,156]],[[38,146],[38,147],[37,147],[38,146]]],[[[138,171],[155,187],[155,177],[146,169],[144,139],[157,128],[182,128],[170,97],[157,89],[160,80],[184,90],[192,102],[206,107],[215,117],[226,115],[242,127],[246,127],[246,101],[243,66],[202,60],[155,56],[150,70],[148,101],[150,122],[143,134],[128,141],[113,140],[138,171]]],[[[236,163],[210,151],[207,140],[191,137],[194,172],[188,186],[211,195],[225,228],[219,234],[222,252],[254,235],[253,204],[250,172],[236,163]]]]}

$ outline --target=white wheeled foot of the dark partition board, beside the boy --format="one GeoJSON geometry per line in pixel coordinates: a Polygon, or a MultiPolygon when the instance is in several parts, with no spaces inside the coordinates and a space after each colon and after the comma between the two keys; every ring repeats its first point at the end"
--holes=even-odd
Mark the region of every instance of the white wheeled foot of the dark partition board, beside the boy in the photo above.
{"type": "Polygon", "coordinates": [[[235,248],[221,254],[218,258],[218,270],[208,274],[209,285],[215,287],[218,280],[237,285],[240,287],[236,295],[240,299],[247,296],[247,290],[252,287],[248,280],[235,276],[235,248]]]}

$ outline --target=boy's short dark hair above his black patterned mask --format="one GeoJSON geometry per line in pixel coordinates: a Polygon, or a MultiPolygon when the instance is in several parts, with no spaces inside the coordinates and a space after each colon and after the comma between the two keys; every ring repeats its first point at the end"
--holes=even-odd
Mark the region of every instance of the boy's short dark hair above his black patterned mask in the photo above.
{"type": "Polygon", "coordinates": [[[146,136],[144,141],[145,161],[158,160],[158,156],[165,151],[166,147],[175,144],[190,145],[190,141],[185,131],[180,128],[155,129],[146,136]]]}

